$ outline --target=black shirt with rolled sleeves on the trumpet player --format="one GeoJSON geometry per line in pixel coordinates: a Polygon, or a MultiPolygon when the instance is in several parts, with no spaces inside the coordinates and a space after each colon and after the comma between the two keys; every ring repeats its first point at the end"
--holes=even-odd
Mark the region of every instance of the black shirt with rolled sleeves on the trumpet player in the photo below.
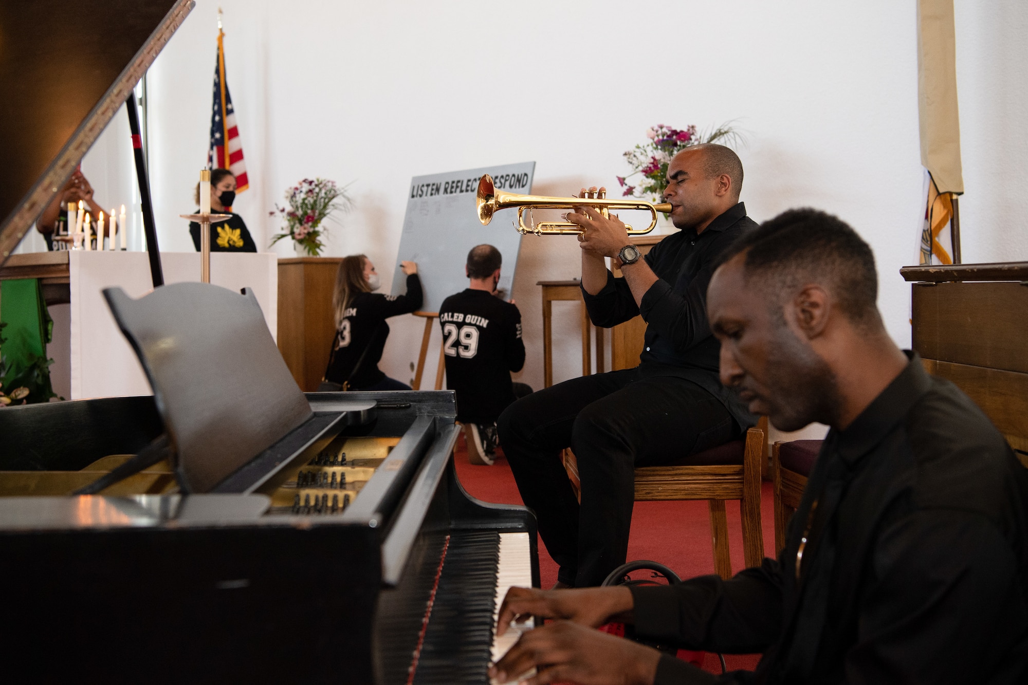
{"type": "Polygon", "coordinates": [[[706,289],[718,256],[737,238],[757,227],[742,203],[728,210],[699,236],[693,229],[671,233],[647,254],[647,264],[659,281],[642,296],[642,305],[624,279],[607,272],[607,285],[595,295],[582,289],[589,318],[611,328],[642,315],[646,344],[639,370],[654,375],[688,378],[720,399],[739,426],[757,423],[746,406],[718,378],[720,345],[706,317],[706,289]]]}

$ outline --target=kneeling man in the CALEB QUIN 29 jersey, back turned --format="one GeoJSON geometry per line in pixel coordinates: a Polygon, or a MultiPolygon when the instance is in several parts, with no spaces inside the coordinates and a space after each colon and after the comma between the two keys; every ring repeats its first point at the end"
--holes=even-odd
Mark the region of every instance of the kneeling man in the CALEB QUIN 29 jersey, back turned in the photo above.
{"type": "Polygon", "coordinates": [[[511,371],[524,366],[521,313],[514,300],[498,296],[503,255],[491,245],[468,253],[467,290],[439,308],[446,360],[446,387],[456,393],[456,420],[467,428],[468,459],[490,466],[498,444],[497,419],[531,388],[514,383],[511,371]]]}

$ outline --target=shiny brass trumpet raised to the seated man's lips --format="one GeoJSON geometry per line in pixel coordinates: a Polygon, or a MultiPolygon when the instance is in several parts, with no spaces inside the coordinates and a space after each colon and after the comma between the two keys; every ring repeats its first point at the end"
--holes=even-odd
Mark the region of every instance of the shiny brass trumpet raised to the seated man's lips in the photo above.
{"type": "Polygon", "coordinates": [[[476,206],[478,207],[478,220],[482,225],[488,225],[492,220],[492,215],[502,209],[510,207],[517,208],[517,229],[519,233],[535,233],[537,236],[577,236],[582,232],[582,228],[570,221],[540,221],[536,223],[531,219],[534,209],[575,209],[576,207],[595,207],[604,217],[610,216],[610,211],[614,210],[650,210],[653,220],[650,225],[642,230],[637,230],[625,224],[629,236],[642,236],[649,233],[657,225],[657,212],[669,214],[671,212],[670,203],[654,205],[645,200],[608,200],[607,193],[596,193],[596,197],[547,197],[544,195],[522,195],[516,192],[498,192],[492,184],[492,177],[483,174],[478,181],[478,195],[476,206]],[[524,222],[524,211],[528,210],[528,223],[524,222]]]}

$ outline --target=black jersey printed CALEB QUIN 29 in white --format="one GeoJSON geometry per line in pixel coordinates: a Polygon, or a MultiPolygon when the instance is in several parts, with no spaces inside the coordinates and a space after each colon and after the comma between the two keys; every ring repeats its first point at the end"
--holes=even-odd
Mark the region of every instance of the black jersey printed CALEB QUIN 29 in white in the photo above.
{"type": "Polygon", "coordinates": [[[514,401],[511,371],[524,366],[521,313],[471,288],[439,308],[446,387],[456,393],[457,421],[489,424],[514,401]]]}

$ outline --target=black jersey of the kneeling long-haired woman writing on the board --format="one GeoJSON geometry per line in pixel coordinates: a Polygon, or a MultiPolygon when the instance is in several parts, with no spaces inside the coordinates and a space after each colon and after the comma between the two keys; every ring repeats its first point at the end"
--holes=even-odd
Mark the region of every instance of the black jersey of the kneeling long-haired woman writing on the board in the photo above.
{"type": "Polygon", "coordinates": [[[421,281],[417,274],[407,277],[405,295],[382,295],[376,292],[356,294],[346,307],[342,325],[335,332],[325,378],[339,384],[348,380],[353,390],[360,390],[386,377],[378,370],[378,361],[382,358],[382,348],[386,347],[386,337],[389,335],[386,319],[416,312],[420,307],[421,281]],[[361,361],[361,368],[351,378],[365,348],[368,353],[361,361]]]}

